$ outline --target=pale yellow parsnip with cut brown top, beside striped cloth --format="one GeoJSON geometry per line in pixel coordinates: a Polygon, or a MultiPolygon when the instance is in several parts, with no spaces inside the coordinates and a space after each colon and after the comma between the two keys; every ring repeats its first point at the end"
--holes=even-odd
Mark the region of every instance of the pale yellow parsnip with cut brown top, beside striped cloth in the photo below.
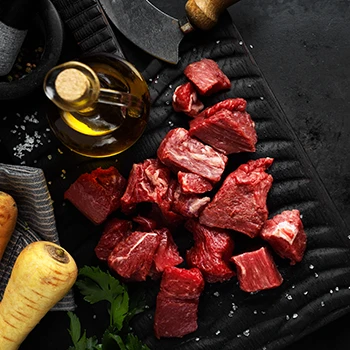
{"type": "Polygon", "coordinates": [[[40,241],[19,254],[0,303],[0,349],[18,349],[45,314],[76,281],[71,255],[57,244],[40,241]]]}

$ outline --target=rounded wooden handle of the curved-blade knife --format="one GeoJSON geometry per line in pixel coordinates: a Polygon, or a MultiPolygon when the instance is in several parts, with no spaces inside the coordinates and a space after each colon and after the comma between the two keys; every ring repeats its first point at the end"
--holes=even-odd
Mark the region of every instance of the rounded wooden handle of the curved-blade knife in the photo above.
{"type": "Polygon", "coordinates": [[[220,14],[239,0],[188,0],[186,14],[193,26],[208,30],[215,26],[220,14]]]}

